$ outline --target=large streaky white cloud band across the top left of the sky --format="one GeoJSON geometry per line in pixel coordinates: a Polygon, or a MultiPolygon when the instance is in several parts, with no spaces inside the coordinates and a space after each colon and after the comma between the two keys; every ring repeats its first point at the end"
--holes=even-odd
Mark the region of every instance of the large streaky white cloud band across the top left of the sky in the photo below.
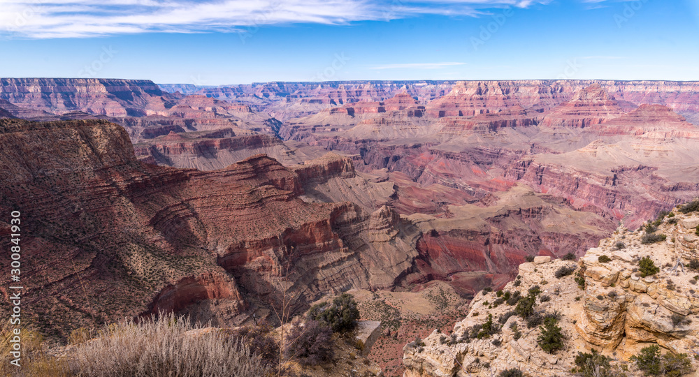
{"type": "MultiPolygon", "coordinates": [[[[347,24],[417,15],[487,14],[552,0],[0,0],[0,35],[85,38],[246,31],[269,24],[347,24]]],[[[598,3],[601,0],[582,0],[598,3]]]]}

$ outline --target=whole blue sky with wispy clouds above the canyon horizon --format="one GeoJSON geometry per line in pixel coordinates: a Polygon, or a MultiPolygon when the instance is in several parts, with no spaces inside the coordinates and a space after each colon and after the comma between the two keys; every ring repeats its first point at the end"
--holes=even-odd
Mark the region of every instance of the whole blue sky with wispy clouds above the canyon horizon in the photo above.
{"type": "Polygon", "coordinates": [[[698,0],[0,0],[0,76],[699,80],[698,0]]]}

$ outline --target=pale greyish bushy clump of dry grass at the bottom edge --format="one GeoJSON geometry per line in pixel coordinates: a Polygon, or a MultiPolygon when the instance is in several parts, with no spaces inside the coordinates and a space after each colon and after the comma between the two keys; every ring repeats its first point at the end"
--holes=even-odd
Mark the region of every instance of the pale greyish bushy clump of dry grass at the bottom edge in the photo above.
{"type": "Polygon", "coordinates": [[[125,321],[80,343],[69,360],[75,376],[89,377],[259,377],[270,369],[238,339],[196,330],[185,318],[164,316],[125,321]]]}

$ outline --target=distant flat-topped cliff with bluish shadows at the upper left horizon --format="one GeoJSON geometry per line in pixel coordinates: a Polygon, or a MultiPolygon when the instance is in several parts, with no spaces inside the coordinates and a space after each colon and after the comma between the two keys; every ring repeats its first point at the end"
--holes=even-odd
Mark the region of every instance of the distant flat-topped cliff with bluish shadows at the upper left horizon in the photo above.
{"type": "Polygon", "coordinates": [[[134,141],[171,131],[278,130],[278,121],[247,105],[169,94],[150,80],[6,78],[0,79],[0,100],[17,106],[15,116],[22,119],[108,118],[126,127],[134,141]]]}

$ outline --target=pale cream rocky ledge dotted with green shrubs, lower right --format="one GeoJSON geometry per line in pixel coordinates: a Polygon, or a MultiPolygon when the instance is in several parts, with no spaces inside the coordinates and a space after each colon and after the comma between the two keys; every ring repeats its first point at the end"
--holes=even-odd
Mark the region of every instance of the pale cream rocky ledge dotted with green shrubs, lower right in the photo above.
{"type": "Polygon", "coordinates": [[[575,356],[593,349],[627,376],[642,376],[630,357],[655,344],[663,354],[686,353],[696,370],[699,212],[678,209],[636,231],[621,226],[577,263],[537,257],[521,264],[502,291],[478,293],[451,333],[435,330],[408,343],[404,376],[496,376],[513,368],[525,376],[575,376],[575,356]],[[655,274],[640,269],[644,257],[655,274]],[[515,313],[517,296],[537,286],[533,315],[515,313]],[[562,349],[553,353],[538,340],[547,316],[558,318],[563,334],[562,349]]]}

